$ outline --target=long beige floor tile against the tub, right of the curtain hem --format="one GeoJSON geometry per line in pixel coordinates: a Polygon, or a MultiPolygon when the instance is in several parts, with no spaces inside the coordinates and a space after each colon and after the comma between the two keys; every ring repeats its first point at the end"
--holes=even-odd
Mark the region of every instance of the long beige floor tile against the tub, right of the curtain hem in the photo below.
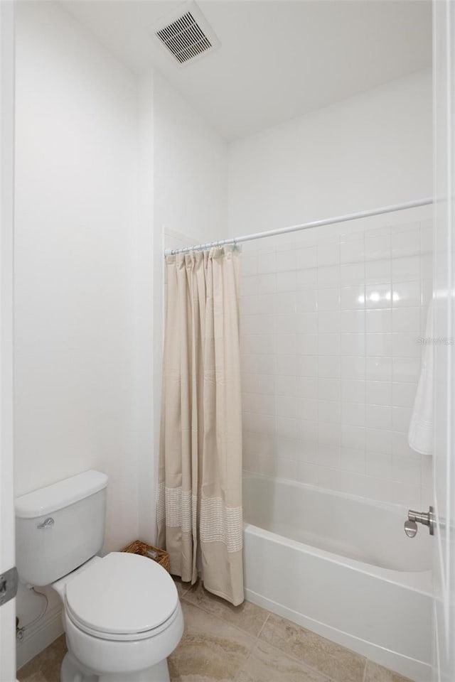
{"type": "Polygon", "coordinates": [[[365,659],[343,646],[271,614],[260,639],[338,682],[363,682],[365,659]]]}

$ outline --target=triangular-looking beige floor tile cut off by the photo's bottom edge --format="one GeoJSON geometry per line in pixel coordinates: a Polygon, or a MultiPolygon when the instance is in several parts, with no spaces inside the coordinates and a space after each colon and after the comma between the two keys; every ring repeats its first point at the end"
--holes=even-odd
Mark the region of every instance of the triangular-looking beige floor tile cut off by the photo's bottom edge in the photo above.
{"type": "Polygon", "coordinates": [[[327,682],[328,678],[301,666],[266,642],[258,642],[236,682],[327,682]]]}

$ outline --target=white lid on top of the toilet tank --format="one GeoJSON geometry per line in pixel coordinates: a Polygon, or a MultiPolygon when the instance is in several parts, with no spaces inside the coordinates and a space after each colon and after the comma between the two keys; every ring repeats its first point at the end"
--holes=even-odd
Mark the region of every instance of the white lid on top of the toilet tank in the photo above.
{"type": "Polygon", "coordinates": [[[16,497],[16,516],[19,519],[36,519],[44,514],[52,514],[53,511],[90,497],[105,487],[107,475],[90,469],[16,497]]]}

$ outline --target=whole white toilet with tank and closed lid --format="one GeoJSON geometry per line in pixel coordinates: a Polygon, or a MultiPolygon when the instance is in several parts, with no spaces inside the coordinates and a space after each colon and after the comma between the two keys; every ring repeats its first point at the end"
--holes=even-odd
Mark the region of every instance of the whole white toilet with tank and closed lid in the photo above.
{"type": "Polygon", "coordinates": [[[90,470],[16,498],[19,578],[62,599],[60,682],[168,682],[166,658],[183,634],[176,585],[149,558],[97,556],[106,489],[107,476],[90,470]]]}

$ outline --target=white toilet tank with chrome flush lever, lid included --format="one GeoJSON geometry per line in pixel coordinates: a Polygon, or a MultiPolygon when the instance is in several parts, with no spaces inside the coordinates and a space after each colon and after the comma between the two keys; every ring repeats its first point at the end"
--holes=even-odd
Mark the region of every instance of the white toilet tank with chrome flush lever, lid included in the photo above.
{"type": "Polygon", "coordinates": [[[49,585],[102,548],[107,476],[90,470],[16,497],[22,583],[49,585]]]}

